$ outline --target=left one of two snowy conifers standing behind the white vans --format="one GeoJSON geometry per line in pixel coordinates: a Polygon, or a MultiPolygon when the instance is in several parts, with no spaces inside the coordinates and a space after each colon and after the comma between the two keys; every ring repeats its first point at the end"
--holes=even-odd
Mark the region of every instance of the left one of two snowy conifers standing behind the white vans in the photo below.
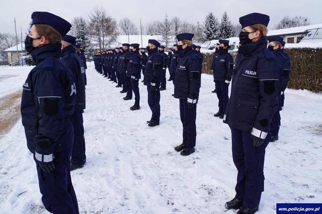
{"type": "Polygon", "coordinates": [[[203,37],[205,41],[219,38],[220,32],[218,18],[211,12],[206,15],[203,28],[203,37]]]}

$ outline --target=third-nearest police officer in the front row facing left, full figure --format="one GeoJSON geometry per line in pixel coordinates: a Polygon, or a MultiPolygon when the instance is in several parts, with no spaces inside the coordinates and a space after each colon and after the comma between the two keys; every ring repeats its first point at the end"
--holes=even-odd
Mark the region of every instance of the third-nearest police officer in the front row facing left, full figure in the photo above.
{"type": "Polygon", "coordinates": [[[152,117],[147,121],[148,126],[160,124],[160,78],[162,71],[162,57],[158,51],[161,44],[149,39],[146,46],[148,53],[145,64],[144,85],[147,88],[147,103],[152,111],[152,117]]]}

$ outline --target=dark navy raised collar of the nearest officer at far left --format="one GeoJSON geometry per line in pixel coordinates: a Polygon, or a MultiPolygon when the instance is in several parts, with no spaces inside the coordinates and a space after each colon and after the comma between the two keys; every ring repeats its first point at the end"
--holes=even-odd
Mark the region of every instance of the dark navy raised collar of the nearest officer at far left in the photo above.
{"type": "Polygon", "coordinates": [[[62,44],[46,44],[41,47],[37,47],[34,50],[32,50],[31,55],[32,59],[36,61],[36,64],[39,64],[40,62],[44,61],[47,57],[57,57],[60,56],[62,44]]]}

